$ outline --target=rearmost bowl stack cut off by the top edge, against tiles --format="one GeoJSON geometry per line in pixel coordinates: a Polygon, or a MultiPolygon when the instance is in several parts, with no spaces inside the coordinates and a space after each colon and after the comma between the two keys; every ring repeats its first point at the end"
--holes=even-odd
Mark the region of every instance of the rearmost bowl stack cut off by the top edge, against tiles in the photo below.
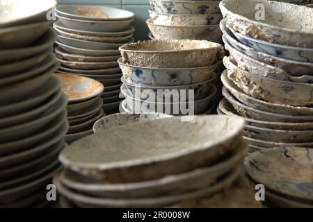
{"type": "Polygon", "coordinates": [[[147,26],[157,40],[221,42],[219,1],[150,0],[147,26]]]}

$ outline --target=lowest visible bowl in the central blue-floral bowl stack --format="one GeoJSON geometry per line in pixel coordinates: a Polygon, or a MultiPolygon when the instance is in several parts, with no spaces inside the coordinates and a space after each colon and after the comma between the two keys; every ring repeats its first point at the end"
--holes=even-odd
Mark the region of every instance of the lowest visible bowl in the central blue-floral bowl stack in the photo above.
{"type": "Polygon", "coordinates": [[[125,95],[127,100],[127,106],[129,110],[134,113],[141,112],[162,112],[166,114],[173,115],[186,115],[186,114],[202,114],[207,111],[210,106],[212,106],[212,101],[214,101],[214,96],[216,95],[216,86],[211,86],[211,91],[208,96],[204,99],[198,99],[193,102],[191,101],[177,101],[172,103],[167,102],[150,102],[141,99],[136,99],[127,93],[127,90],[122,89],[122,94],[125,95]],[[162,109],[162,110],[161,110],[162,109]]]}

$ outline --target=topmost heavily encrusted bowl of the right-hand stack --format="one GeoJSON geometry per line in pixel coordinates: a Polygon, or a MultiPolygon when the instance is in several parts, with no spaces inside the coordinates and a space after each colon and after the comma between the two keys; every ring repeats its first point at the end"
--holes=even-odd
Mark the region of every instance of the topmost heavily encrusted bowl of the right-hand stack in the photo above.
{"type": "Polygon", "coordinates": [[[230,28],[243,35],[277,44],[313,47],[312,8],[266,0],[223,0],[220,10],[230,28]],[[264,8],[263,19],[256,18],[258,4],[264,8]]]}

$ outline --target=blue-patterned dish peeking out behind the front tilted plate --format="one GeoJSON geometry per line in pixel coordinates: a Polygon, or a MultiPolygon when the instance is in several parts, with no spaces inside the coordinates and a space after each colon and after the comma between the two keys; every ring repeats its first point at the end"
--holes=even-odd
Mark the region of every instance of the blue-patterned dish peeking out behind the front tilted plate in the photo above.
{"type": "Polygon", "coordinates": [[[172,117],[168,114],[163,113],[146,113],[146,114],[127,114],[127,113],[117,113],[111,114],[106,117],[98,119],[95,124],[93,124],[93,132],[99,133],[102,130],[108,130],[109,128],[122,126],[129,123],[147,121],[151,119],[159,118],[169,118],[172,117]]]}

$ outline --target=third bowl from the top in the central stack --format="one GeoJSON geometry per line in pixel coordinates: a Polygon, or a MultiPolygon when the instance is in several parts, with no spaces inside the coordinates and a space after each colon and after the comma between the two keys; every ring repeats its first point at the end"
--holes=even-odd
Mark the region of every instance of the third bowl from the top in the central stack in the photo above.
{"type": "Polygon", "coordinates": [[[216,75],[211,76],[211,79],[202,83],[195,83],[190,85],[175,85],[175,86],[141,86],[131,85],[126,83],[124,77],[121,78],[122,89],[127,89],[129,95],[136,99],[144,101],[186,101],[190,99],[204,99],[208,96],[212,81],[216,78],[216,75]],[[172,95],[172,96],[171,96],[172,95]],[[193,97],[190,97],[193,96],[193,97]],[[173,97],[173,98],[172,98],[173,97]]]}

